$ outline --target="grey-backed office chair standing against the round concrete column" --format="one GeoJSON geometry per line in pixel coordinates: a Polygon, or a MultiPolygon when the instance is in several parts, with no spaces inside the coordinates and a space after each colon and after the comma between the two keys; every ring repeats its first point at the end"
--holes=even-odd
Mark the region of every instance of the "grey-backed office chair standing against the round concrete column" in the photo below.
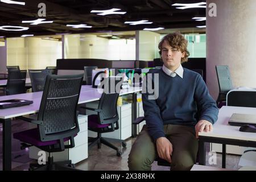
{"type": "Polygon", "coordinates": [[[228,65],[216,65],[216,73],[220,89],[216,104],[221,107],[220,105],[224,105],[223,103],[226,102],[226,94],[233,89],[233,84],[228,65]]]}

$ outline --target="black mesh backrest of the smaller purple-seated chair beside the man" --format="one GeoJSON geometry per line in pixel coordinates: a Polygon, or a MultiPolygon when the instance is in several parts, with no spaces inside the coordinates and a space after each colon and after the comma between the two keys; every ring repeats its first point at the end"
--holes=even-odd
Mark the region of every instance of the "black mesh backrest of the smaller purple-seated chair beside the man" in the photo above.
{"type": "Polygon", "coordinates": [[[117,100],[119,93],[102,93],[98,109],[101,124],[109,124],[118,122],[117,100]]]}

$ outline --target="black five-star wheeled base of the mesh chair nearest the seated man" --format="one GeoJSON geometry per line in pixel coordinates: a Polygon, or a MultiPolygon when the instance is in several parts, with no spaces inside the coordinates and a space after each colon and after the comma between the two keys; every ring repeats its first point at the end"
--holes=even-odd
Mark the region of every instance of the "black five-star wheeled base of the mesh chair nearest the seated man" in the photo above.
{"type": "Polygon", "coordinates": [[[113,148],[115,151],[117,151],[117,156],[121,156],[122,152],[115,147],[112,143],[108,142],[108,140],[112,140],[114,142],[122,142],[122,146],[126,147],[126,142],[121,139],[109,139],[109,138],[103,138],[103,137],[97,137],[97,138],[91,138],[89,137],[89,148],[93,147],[94,145],[98,145],[98,148],[101,148],[101,143],[105,144],[105,146],[108,146],[110,148],[113,148]]]}

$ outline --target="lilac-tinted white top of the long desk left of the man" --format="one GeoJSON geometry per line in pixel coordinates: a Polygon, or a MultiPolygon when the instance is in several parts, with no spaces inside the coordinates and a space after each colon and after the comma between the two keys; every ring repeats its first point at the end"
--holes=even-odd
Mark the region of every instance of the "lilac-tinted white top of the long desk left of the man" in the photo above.
{"type": "MultiPolygon", "coordinates": [[[[141,90],[142,88],[140,87],[130,87],[129,89],[122,89],[119,95],[122,96],[123,94],[135,93],[141,90]]],[[[21,115],[26,115],[26,114],[37,113],[40,107],[42,94],[43,92],[33,92],[33,93],[15,94],[11,96],[1,96],[0,101],[19,98],[23,100],[31,100],[34,103],[26,106],[0,109],[0,119],[7,119],[7,118],[18,117],[21,115]]],[[[97,88],[92,88],[91,85],[82,85],[80,97],[79,97],[79,104],[97,101],[97,100],[100,100],[100,97],[101,97],[101,93],[97,91],[97,88]]]]}

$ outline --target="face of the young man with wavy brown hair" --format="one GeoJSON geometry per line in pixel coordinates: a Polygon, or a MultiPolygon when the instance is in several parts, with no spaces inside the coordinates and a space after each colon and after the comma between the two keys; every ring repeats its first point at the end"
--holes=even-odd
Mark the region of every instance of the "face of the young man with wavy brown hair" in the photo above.
{"type": "Polygon", "coordinates": [[[162,44],[162,60],[164,65],[175,71],[180,66],[181,58],[185,56],[185,53],[181,53],[176,48],[172,48],[168,42],[165,40],[162,44]]]}

